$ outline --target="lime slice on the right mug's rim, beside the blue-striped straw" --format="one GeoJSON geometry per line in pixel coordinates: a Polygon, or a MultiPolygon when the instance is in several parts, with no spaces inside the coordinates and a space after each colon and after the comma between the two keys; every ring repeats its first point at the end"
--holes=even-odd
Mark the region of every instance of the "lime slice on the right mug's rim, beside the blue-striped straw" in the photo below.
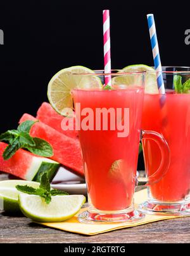
{"type": "MultiPolygon", "coordinates": [[[[146,79],[144,83],[144,92],[145,93],[158,93],[158,86],[156,81],[156,73],[154,72],[155,69],[153,67],[149,67],[148,65],[138,64],[138,65],[129,65],[124,67],[121,71],[122,72],[137,72],[137,71],[152,71],[149,74],[146,74],[146,79]]],[[[115,76],[112,78],[112,85],[117,84],[124,84],[124,85],[136,85],[139,84],[138,81],[139,77],[134,75],[123,75],[123,76],[115,76]]]]}

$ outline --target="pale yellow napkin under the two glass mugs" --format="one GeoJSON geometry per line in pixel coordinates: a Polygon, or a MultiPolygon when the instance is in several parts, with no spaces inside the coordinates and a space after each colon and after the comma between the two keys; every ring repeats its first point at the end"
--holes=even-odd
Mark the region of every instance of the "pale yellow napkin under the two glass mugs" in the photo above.
{"type": "MultiPolygon", "coordinates": [[[[143,203],[147,199],[147,191],[143,189],[142,191],[135,193],[135,202],[137,204],[143,203]]],[[[87,208],[82,208],[80,212],[85,211],[87,208]]],[[[79,212],[79,213],[80,213],[79,212]]],[[[77,215],[79,214],[77,213],[77,215]]],[[[149,222],[156,222],[159,220],[167,220],[167,219],[174,219],[177,218],[176,216],[162,216],[162,215],[146,215],[146,217],[138,222],[129,223],[129,222],[120,222],[114,224],[105,224],[105,223],[95,223],[95,224],[84,224],[80,223],[77,219],[77,215],[72,217],[71,219],[65,220],[64,222],[50,222],[45,223],[41,222],[42,224],[47,227],[53,227],[54,229],[61,229],[63,231],[78,233],[78,234],[85,234],[92,236],[94,234],[100,234],[104,232],[109,232],[116,229],[124,229],[125,227],[135,227],[143,224],[147,224],[149,222]]]]}

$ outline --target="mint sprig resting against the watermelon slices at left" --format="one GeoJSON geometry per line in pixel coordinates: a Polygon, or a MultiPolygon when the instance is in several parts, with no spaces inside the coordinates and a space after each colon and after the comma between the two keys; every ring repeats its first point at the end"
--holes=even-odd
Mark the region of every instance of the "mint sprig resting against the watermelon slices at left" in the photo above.
{"type": "Polygon", "coordinates": [[[27,120],[21,123],[17,130],[8,130],[0,135],[0,141],[9,144],[3,152],[4,160],[10,159],[18,149],[22,148],[37,156],[46,158],[53,156],[53,149],[46,140],[30,136],[30,129],[36,122],[38,121],[27,120]]]}

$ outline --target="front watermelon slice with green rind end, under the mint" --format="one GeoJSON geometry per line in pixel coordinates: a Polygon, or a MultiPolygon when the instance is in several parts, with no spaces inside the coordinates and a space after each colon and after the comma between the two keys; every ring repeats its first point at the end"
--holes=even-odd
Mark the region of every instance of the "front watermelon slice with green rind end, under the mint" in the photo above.
{"type": "Polygon", "coordinates": [[[41,175],[47,172],[49,179],[53,179],[60,164],[48,158],[34,156],[34,154],[19,149],[8,160],[3,159],[3,151],[8,144],[0,142],[0,170],[10,173],[23,180],[40,181],[41,175]]]}

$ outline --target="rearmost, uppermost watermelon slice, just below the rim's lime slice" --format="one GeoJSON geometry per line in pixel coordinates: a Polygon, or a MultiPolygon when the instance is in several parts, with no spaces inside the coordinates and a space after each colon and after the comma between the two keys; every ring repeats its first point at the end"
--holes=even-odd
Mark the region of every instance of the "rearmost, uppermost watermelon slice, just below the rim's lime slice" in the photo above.
{"type": "Polygon", "coordinates": [[[43,102],[41,107],[39,107],[36,118],[70,138],[79,137],[78,132],[75,131],[75,119],[73,119],[73,130],[63,131],[63,129],[61,128],[61,122],[63,121],[63,119],[69,118],[64,118],[63,116],[58,114],[47,102],[43,102]]]}

